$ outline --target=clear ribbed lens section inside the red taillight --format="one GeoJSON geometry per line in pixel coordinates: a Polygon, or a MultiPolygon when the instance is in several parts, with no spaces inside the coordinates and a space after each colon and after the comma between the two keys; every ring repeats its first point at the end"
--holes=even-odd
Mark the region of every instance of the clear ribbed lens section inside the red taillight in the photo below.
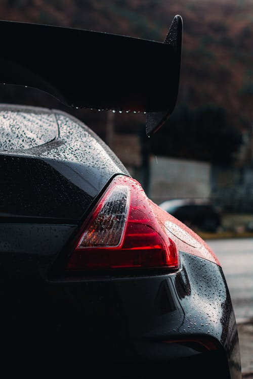
{"type": "Polygon", "coordinates": [[[120,245],[129,212],[129,188],[116,185],[107,193],[94,213],[88,230],[77,248],[117,247],[120,245]]]}

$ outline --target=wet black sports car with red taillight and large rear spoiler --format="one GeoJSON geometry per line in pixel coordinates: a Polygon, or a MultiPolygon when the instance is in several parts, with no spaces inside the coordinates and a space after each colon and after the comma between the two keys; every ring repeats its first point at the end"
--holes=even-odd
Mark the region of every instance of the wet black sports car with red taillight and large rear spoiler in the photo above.
{"type": "MultiPolygon", "coordinates": [[[[175,106],[179,16],[164,43],[8,22],[0,29],[8,36],[1,82],[76,107],[147,112],[149,134],[175,106]],[[31,34],[33,49],[22,44],[31,34]],[[74,56],[81,41],[87,59],[74,56]],[[101,49],[112,54],[103,62],[101,49]],[[107,70],[125,76],[108,79],[107,70]]],[[[199,236],[152,203],[74,117],[2,105],[0,128],[2,373],[239,378],[229,291],[199,236]]]]}

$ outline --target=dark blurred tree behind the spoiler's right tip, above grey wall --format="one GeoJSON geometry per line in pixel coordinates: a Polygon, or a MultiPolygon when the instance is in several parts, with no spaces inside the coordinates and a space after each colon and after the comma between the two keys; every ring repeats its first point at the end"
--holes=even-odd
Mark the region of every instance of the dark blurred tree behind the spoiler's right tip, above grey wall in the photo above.
{"type": "Polygon", "coordinates": [[[225,109],[182,105],[150,139],[150,153],[227,166],[241,143],[241,133],[228,122],[225,109]]]}

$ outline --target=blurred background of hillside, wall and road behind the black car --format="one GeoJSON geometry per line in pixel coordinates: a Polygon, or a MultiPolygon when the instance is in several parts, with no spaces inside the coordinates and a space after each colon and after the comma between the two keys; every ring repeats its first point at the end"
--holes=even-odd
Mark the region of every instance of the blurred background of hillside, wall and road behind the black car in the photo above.
{"type": "MultiPolygon", "coordinates": [[[[1,0],[0,14],[157,41],[176,14],[183,17],[178,103],[152,138],[143,114],[69,109],[44,92],[3,84],[0,102],[81,119],[155,203],[207,240],[232,296],[243,374],[253,377],[253,0],[1,0]]],[[[32,36],[24,41],[31,49],[34,43],[32,36]]],[[[56,54],[60,65],[66,52],[56,46],[56,54]]],[[[83,60],[85,70],[85,45],[73,59],[83,60]]]]}

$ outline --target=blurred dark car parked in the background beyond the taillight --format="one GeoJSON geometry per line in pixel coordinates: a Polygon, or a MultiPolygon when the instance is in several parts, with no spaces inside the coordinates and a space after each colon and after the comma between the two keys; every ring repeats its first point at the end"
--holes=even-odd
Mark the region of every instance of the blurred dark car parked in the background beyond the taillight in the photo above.
{"type": "Polygon", "coordinates": [[[219,210],[205,199],[167,200],[159,207],[192,228],[215,232],[221,225],[219,210]]]}

